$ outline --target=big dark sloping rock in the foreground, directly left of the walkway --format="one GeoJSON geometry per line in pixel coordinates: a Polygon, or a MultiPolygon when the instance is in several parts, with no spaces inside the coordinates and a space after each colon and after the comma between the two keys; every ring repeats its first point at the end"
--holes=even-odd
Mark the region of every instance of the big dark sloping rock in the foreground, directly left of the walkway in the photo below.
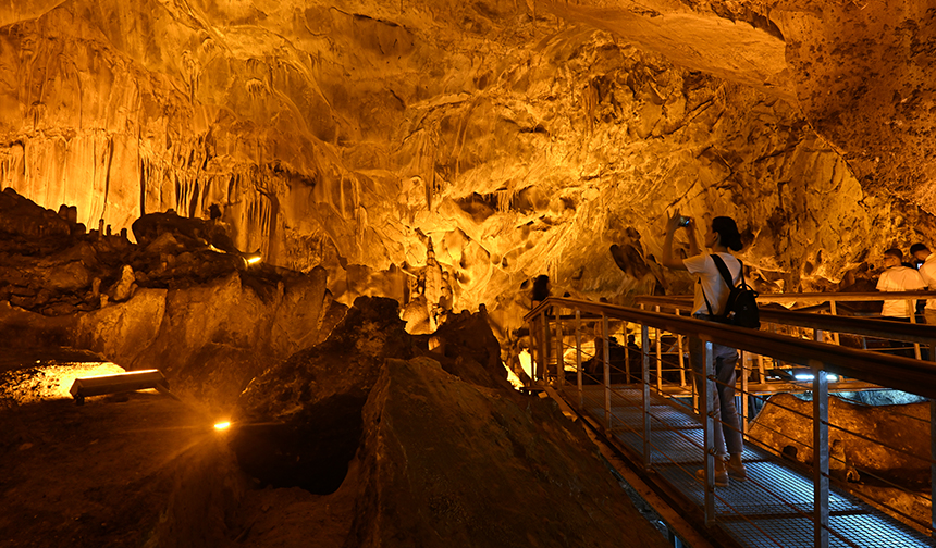
{"type": "Polygon", "coordinates": [[[346,547],[667,545],[552,402],[417,358],[387,362],[364,415],[346,547]]]}

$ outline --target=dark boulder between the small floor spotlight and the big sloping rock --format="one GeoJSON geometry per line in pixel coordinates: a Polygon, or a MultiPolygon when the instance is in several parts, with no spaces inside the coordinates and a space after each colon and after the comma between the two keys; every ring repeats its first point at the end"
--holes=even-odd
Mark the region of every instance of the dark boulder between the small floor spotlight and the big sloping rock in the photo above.
{"type": "Polygon", "coordinates": [[[412,356],[397,302],[358,297],[323,342],[257,376],[241,395],[232,448],[276,487],[337,489],[357,451],[361,409],[389,358],[412,356]]]}

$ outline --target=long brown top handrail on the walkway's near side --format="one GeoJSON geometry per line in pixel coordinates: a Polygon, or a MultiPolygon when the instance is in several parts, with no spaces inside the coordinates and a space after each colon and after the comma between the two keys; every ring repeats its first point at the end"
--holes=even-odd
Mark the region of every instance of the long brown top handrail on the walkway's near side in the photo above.
{"type": "MultiPolygon", "coordinates": [[[[673,333],[694,336],[740,350],[772,356],[805,366],[818,366],[846,375],[927,398],[936,398],[936,364],[900,356],[871,353],[826,342],[800,339],[744,327],[705,322],[689,316],[650,312],[603,302],[550,297],[528,312],[530,322],[547,308],[578,309],[609,317],[649,325],[673,333]]],[[[907,325],[900,324],[901,327],[907,325]]]]}

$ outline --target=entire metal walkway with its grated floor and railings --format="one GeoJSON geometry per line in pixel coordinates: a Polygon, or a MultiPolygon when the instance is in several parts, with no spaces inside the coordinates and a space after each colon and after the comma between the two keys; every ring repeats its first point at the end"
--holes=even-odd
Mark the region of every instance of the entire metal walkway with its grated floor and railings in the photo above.
{"type": "MultiPolygon", "coordinates": [[[[841,384],[841,379],[858,381],[869,388],[874,385],[877,389],[916,395],[923,401],[928,399],[928,412],[914,411],[921,416],[906,415],[906,420],[919,421],[921,428],[932,432],[936,425],[936,363],[919,357],[925,349],[936,358],[936,326],[765,310],[762,322],[767,322],[766,328],[748,329],[680,315],[678,309],[685,307],[681,302],[670,307],[677,309],[677,314],[662,313],[664,306],[654,303],[657,311],[651,312],[550,297],[525,315],[532,354],[529,381],[562,391],[563,396],[554,397],[566,399],[596,433],[629,454],[633,468],[645,471],[658,494],[666,494],[666,500],[660,501],[668,507],[663,511],[676,509],[680,518],[694,523],[698,532],[710,532],[725,546],[936,547],[936,507],[931,503],[936,499],[936,436],[920,439],[912,448],[903,447],[886,432],[869,437],[838,415],[829,414],[834,385],[841,384]],[[612,322],[618,329],[615,333],[628,339],[626,347],[618,345],[614,356],[608,341],[612,322]],[[853,341],[855,335],[909,341],[917,359],[874,352],[864,342],[861,348],[837,344],[846,336],[853,341]],[[689,360],[683,359],[683,340],[699,352],[692,354],[695,366],[690,368],[689,360]],[[587,344],[594,349],[587,349],[587,344]],[[706,395],[725,389],[718,388],[721,382],[715,376],[718,345],[742,352],[740,386],[732,387],[736,397],[742,396],[739,412],[748,421],[742,425],[750,423],[749,398],[761,398],[751,390],[751,381],[759,381],[756,387],[765,379],[781,378],[778,368],[812,394],[811,411],[780,406],[808,429],[789,435],[783,428],[773,429],[789,439],[792,449],[805,451],[800,459],[779,457],[779,449],[769,440],[756,446],[758,440],[742,426],[749,439],[743,457],[750,478],[731,482],[728,487],[714,485],[714,433],[716,425],[738,426],[721,425],[721,418],[710,413],[706,403],[706,395]],[[664,346],[669,350],[664,351],[664,346]],[[629,352],[636,353],[636,362],[628,358],[629,352]],[[574,378],[567,376],[567,370],[574,378]],[[673,388],[678,385],[685,391],[693,376],[698,397],[683,407],[680,399],[689,398],[673,397],[678,394],[673,388]],[[621,384],[635,377],[639,384],[621,384]],[[698,414],[693,406],[700,408],[698,414]],[[866,443],[871,446],[860,449],[861,453],[852,449],[851,462],[861,462],[852,471],[883,482],[886,489],[860,489],[859,495],[859,490],[846,490],[845,485],[838,487],[833,465],[845,470],[849,456],[843,450],[866,443]],[[914,473],[922,475],[928,469],[931,496],[900,478],[891,481],[880,475],[884,472],[873,459],[880,450],[910,459],[914,473]],[[697,470],[706,471],[702,474],[704,481],[697,479],[697,470]],[[900,497],[899,501],[887,498],[890,494],[900,497]],[[910,508],[901,508],[902,505],[910,508]]],[[[766,403],[764,400],[760,399],[766,403]]]]}

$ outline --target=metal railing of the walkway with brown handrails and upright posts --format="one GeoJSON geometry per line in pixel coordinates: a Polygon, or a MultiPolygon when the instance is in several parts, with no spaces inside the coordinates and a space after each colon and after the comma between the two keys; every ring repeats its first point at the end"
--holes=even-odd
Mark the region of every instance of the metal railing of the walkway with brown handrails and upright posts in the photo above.
{"type": "MultiPolygon", "coordinates": [[[[913,296],[916,297],[917,295],[913,296]]],[[[874,294],[874,297],[879,300],[880,294],[874,294]]],[[[691,308],[691,302],[686,302],[685,299],[679,300],[678,302],[674,302],[670,299],[668,302],[660,301],[655,303],[650,302],[651,300],[651,298],[648,298],[644,304],[650,303],[654,307],[670,307],[673,310],[681,309],[686,311],[691,308]]],[[[872,353],[862,349],[846,348],[823,341],[826,338],[824,336],[826,331],[824,329],[830,329],[834,327],[835,329],[841,329],[842,333],[849,332],[848,329],[865,329],[867,334],[876,334],[886,337],[899,335],[901,337],[910,337],[911,340],[916,340],[917,344],[932,346],[933,341],[936,340],[936,337],[934,337],[934,334],[936,334],[936,327],[932,326],[911,326],[908,324],[879,320],[833,317],[829,315],[820,316],[816,314],[783,311],[777,311],[776,314],[774,311],[765,310],[762,312],[762,320],[766,322],[776,321],[778,324],[791,325],[797,328],[811,328],[813,331],[813,338],[817,340],[806,340],[781,334],[703,322],[680,315],[557,298],[547,299],[541,306],[527,314],[526,320],[530,322],[530,333],[532,335],[531,351],[534,354],[534,366],[531,370],[531,376],[533,379],[551,381],[557,383],[559,386],[568,386],[565,378],[566,368],[568,366],[566,354],[567,352],[572,352],[575,356],[575,365],[572,366],[572,370],[576,372],[575,386],[578,391],[579,409],[588,407],[586,393],[594,393],[594,388],[600,387],[601,391],[603,391],[603,398],[601,398],[603,401],[601,401],[600,404],[603,410],[602,427],[606,432],[613,434],[616,427],[624,426],[619,422],[615,422],[616,419],[613,411],[613,403],[620,403],[621,401],[628,400],[628,394],[630,396],[635,394],[633,386],[639,386],[637,390],[640,395],[639,407],[641,419],[639,421],[640,432],[637,433],[642,441],[638,452],[640,453],[639,459],[646,469],[653,468],[654,450],[664,450],[664,448],[658,444],[654,444],[652,426],[654,424],[663,424],[663,421],[660,416],[655,416],[651,411],[651,407],[653,406],[652,401],[654,401],[654,398],[660,398],[661,396],[672,396],[672,391],[667,394],[666,387],[668,384],[678,384],[681,382],[685,386],[686,375],[691,379],[693,375],[701,374],[701,372],[692,372],[686,368],[686,360],[683,357],[685,346],[681,344],[681,337],[694,337],[704,342],[703,363],[705,382],[701,382],[700,377],[698,385],[701,394],[698,395],[698,398],[693,398],[693,407],[698,409],[699,416],[703,418],[701,421],[703,431],[702,440],[701,444],[697,445],[699,446],[700,459],[704,456],[703,470],[705,471],[705,485],[704,497],[702,500],[702,513],[706,524],[714,524],[716,521],[716,498],[722,506],[730,507],[730,503],[724,497],[718,496],[714,486],[715,448],[712,433],[715,427],[714,421],[719,419],[712,416],[709,412],[709,394],[714,394],[714,390],[716,389],[716,379],[713,374],[715,361],[713,356],[713,346],[725,345],[738,348],[747,354],[764,357],[778,362],[785,362],[787,364],[795,364],[800,368],[808,369],[812,374],[812,381],[808,385],[809,390],[813,395],[812,415],[804,416],[806,416],[808,420],[813,421],[813,433],[810,446],[811,448],[817,448],[817,450],[813,450],[812,458],[814,497],[812,511],[810,512],[810,519],[814,524],[813,541],[815,546],[828,546],[830,533],[848,545],[855,545],[855,543],[849,540],[846,533],[829,526],[830,460],[834,466],[839,468],[839,463],[835,462],[835,457],[830,456],[829,452],[829,427],[838,428],[836,425],[829,424],[828,420],[829,375],[835,374],[852,379],[859,379],[867,386],[873,384],[880,387],[917,394],[927,398],[936,397],[936,365],[929,362],[903,357],[872,353]],[[820,317],[822,321],[816,320],[816,317],[820,317]],[[836,323],[835,325],[823,323],[826,320],[836,323]],[[628,345],[624,347],[624,353],[626,356],[624,368],[619,368],[617,371],[613,371],[613,360],[611,356],[609,339],[612,334],[608,324],[612,321],[638,325],[641,339],[639,350],[631,348],[628,345]],[[592,363],[599,363],[603,371],[601,371],[601,378],[598,378],[596,375],[591,375],[589,378],[590,375],[586,373],[582,368],[583,357],[587,356],[587,352],[583,352],[583,336],[584,338],[588,338],[588,335],[582,329],[582,325],[595,322],[600,323],[599,333],[601,334],[600,338],[603,342],[601,348],[595,349],[594,353],[598,356],[593,356],[591,361],[592,363]],[[872,323],[869,324],[867,322],[872,323]],[[882,326],[878,324],[894,325],[882,326]],[[653,344],[651,341],[651,329],[654,332],[653,344]],[[567,332],[569,333],[568,335],[566,335],[567,332]],[[675,348],[678,352],[675,359],[672,358],[674,352],[669,352],[670,359],[668,360],[668,363],[673,368],[669,371],[680,372],[678,376],[679,379],[673,381],[672,383],[668,383],[665,378],[667,370],[664,368],[664,364],[667,360],[664,359],[666,352],[663,352],[661,348],[661,341],[666,333],[676,335],[675,348]],[[572,336],[574,342],[566,345],[564,341],[566,339],[571,339],[572,336]],[[638,376],[637,371],[631,371],[631,366],[635,366],[633,369],[636,369],[638,363],[635,360],[629,359],[630,356],[628,356],[630,352],[635,351],[639,353],[640,360],[639,384],[628,384],[636,381],[638,376]],[[652,365],[655,365],[655,368],[652,365]],[[612,382],[613,376],[617,376],[617,383],[612,382]],[[623,383],[620,382],[621,379],[624,381],[623,383]],[[591,385],[589,390],[586,390],[587,383],[591,385]],[[621,386],[625,386],[625,388],[621,388],[621,386]],[[814,420],[813,418],[817,418],[817,420],[814,420]]],[[[933,356],[933,353],[931,353],[931,356],[933,356]]],[[[742,359],[742,365],[744,362],[746,361],[742,359]]],[[[751,373],[753,373],[753,368],[744,369],[742,366],[741,394],[742,399],[746,402],[748,400],[748,396],[754,395],[751,390],[747,389],[747,379],[751,373]]],[[[576,389],[572,391],[576,391],[576,389]]],[[[629,399],[631,402],[637,401],[633,398],[629,399]]],[[[667,397],[664,401],[668,404],[680,407],[678,403],[674,403],[674,398],[667,397]]],[[[746,418],[742,420],[741,425],[724,425],[723,427],[740,427],[742,432],[747,433],[747,411],[746,406],[743,413],[746,418]]],[[[791,411],[796,412],[795,410],[791,411]]],[[[934,419],[936,419],[936,407],[931,403],[931,424],[934,423],[934,419]]],[[[750,436],[748,437],[748,440],[751,440],[750,436]]],[[[690,441],[695,444],[694,440],[690,441]]],[[[934,447],[932,438],[929,449],[931,456],[936,453],[936,447],[934,447]]],[[[774,452],[776,453],[776,451],[774,452]]],[[[932,486],[936,483],[932,479],[936,478],[936,464],[934,464],[934,460],[931,456],[913,454],[912,457],[928,463],[931,471],[929,500],[932,509],[932,486]]],[[[768,491],[771,497],[776,498],[776,502],[780,506],[789,506],[791,513],[803,514],[800,507],[789,503],[781,493],[776,493],[778,486],[763,485],[761,487],[768,491]]],[[[743,515],[741,518],[743,518],[743,515]]],[[[737,516],[735,519],[737,519],[737,516]]],[[[724,522],[725,518],[721,521],[724,522]]],[[[936,523],[936,515],[934,515],[932,510],[929,519],[926,521],[928,521],[928,523],[920,523],[917,520],[914,524],[917,530],[925,530],[927,533],[932,534],[934,523],[936,523]]],[[[767,537],[771,538],[771,535],[767,534],[767,537]]],[[[783,540],[776,538],[772,538],[772,540],[777,546],[784,546],[783,540]]],[[[861,544],[857,544],[855,546],[861,546],[861,544]]]]}

